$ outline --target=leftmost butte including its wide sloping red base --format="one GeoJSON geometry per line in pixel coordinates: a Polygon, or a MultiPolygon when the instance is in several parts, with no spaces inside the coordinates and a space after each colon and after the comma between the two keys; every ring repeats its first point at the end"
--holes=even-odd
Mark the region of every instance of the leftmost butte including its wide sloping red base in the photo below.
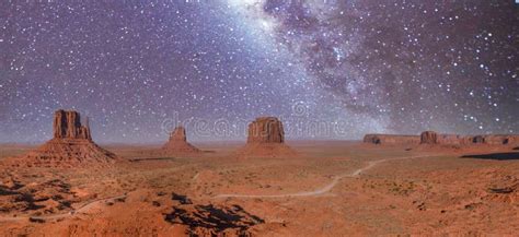
{"type": "Polygon", "coordinates": [[[92,141],[88,121],[81,125],[77,111],[57,110],[54,116],[54,138],[16,158],[15,166],[78,167],[105,166],[116,162],[115,154],[92,141]]]}

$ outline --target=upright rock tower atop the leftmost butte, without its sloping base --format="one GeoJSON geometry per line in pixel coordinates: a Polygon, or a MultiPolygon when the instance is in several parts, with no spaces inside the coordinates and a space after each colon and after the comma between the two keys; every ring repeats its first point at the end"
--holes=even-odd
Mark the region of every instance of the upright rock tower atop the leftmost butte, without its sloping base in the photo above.
{"type": "Polygon", "coordinates": [[[54,114],[54,138],[92,140],[88,118],[85,126],[82,126],[79,112],[57,110],[54,114]]]}

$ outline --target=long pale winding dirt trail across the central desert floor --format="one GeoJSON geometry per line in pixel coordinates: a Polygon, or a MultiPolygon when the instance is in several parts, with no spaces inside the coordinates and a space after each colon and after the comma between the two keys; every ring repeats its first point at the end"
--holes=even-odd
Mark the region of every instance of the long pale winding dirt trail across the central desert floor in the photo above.
{"type": "Polygon", "coordinates": [[[222,198],[242,198],[242,199],[255,199],[255,198],[262,198],[262,199],[276,199],[276,198],[296,198],[296,197],[314,197],[314,195],[321,195],[326,192],[330,192],[343,178],[354,178],[359,176],[360,174],[365,173],[368,169],[373,168],[378,164],[384,163],[384,162],[392,162],[392,161],[402,161],[402,159],[412,159],[412,158],[422,158],[422,157],[428,157],[429,155],[423,155],[423,156],[410,156],[410,157],[401,157],[401,158],[385,158],[385,159],[379,159],[379,161],[373,161],[369,162],[367,166],[356,169],[353,173],[348,174],[343,174],[339,176],[336,176],[332,179],[332,181],[319,189],[315,189],[313,191],[303,191],[303,192],[295,192],[295,193],[286,193],[286,194],[218,194],[212,197],[212,199],[222,199],[222,198]]]}

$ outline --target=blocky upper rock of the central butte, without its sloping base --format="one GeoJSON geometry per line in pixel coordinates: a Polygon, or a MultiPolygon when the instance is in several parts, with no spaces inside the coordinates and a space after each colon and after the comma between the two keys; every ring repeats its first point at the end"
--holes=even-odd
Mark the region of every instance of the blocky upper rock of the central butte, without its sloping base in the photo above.
{"type": "Polygon", "coordinates": [[[275,117],[261,117],[249,125],[247,144],[285,143],[282,122],[275,117]]]}

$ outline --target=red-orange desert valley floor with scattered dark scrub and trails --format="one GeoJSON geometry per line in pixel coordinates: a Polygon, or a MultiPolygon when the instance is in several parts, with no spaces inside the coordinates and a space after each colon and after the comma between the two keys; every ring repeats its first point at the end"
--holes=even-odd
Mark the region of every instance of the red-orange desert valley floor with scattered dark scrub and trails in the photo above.
{"type": "MultiPolygon", "coordinates": [[[[342,236],[519,232],[519,147],[289,143],[298,156],[112,145],[109,167],[2,167],[2,236],[342,236]]],[[[33,147],[2,145],[0,161],[33,147]]]]}

